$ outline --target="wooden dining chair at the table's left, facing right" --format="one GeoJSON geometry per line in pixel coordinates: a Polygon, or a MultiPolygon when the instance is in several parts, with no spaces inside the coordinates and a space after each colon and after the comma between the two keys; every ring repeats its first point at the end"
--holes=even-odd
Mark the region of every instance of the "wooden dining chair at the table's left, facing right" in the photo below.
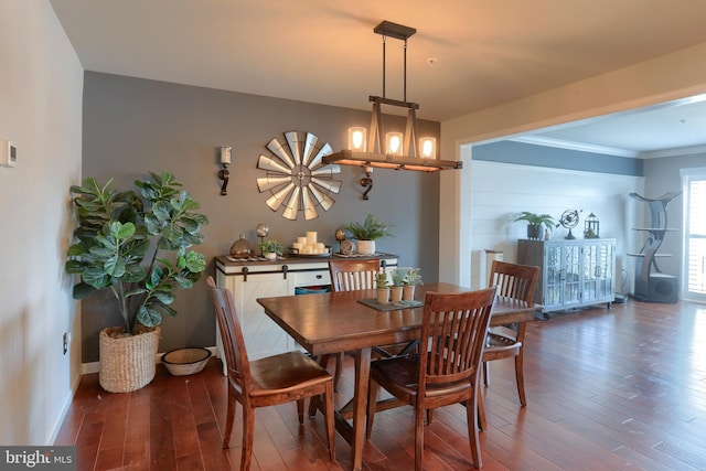
{"type": "Polygon", "coordinates": [[[240,470],[249,470],[253,457],[255,409],[297,402],[299,424],[303,424],[304,398],[323,395],[329,457],[335,461],[333,429],[333,377],[300,351],[248,361],[233,293],[207,279],[221,339],[225,350],[228,381],[228,409],[223,448],[228,448],[236,402],[243,406],[243,451],[240,470]]]}

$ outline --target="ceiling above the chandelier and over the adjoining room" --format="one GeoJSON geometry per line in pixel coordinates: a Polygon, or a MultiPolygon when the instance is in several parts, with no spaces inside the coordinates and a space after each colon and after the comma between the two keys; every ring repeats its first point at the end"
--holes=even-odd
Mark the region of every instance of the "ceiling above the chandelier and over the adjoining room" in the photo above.
{"type": "MultiPolygon", "coordinates": [[[[406,98],[437,121],[706,42],[704,0],[50,1],[88,71],[359,109],[383,95],[373,28],[416,28],[406,98]]],[[[402,57],[388,39],[388,98],[405,98],[402,57]]],[[[706,103],[678,105],[538,137],[633,156],[706,144],[706,103]]]]}

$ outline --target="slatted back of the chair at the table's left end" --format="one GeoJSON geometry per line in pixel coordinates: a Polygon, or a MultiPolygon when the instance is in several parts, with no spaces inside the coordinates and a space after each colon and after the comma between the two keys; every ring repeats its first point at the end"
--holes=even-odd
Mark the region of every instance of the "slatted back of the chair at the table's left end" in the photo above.
{"type": "Polygon", "coordinates": [[[247,351],[245,350],[245,338],[235,310],[233,293],[228,289],[217,288],[213,277],[208,277],[206,283],[216,311],[221,341],[228,365],[228,377],[239,388],[238,394],[243,395],[243,399],[247,400],[249,393],[253,390],[253,379],[247,351]]]}

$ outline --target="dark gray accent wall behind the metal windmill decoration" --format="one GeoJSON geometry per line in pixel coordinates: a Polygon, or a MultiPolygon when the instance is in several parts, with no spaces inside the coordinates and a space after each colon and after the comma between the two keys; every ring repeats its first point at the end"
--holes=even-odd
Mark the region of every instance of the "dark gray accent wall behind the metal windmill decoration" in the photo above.
{"type": "MultiPolygon", "coordinates": [[[[199,247],[208,260],[226,254],[239,233],[255,245],[258,223],[269,224],[270,237],[286,245],[307,231],[317,231],[320,239],[335,245],[336,228],[372,212],[395,225],[396,237],[378,240],[377,249],[399,255],[403,265],[421,267],[425,281],[436,281],[438,174],[376,169],[370,201],[363,201],[359,184],[363,171],[342,167],[335,204],[308,222],[302,216],[285,220],[257,190],[256,179],[265,176],[256,168],[257,159],[270,154],[265,148],[270,139],[284,142],[286,131],[309,131],[339,150],[350,126],[368,126],[370,111],[93,72],[84,82],[83,175],[99,181],[114,176],[117,185],[128,188],[148,171],[175,174],[211,220],[199,247]],[[233,147],[227,196],[220,195],[220,146],[233,147]]],[[[362,106],[365,99],[361,97],[362,106]]],[[[393,117],[386,126],[404,131],[404,118],[393,117]]],[[[419,127],[421,136],[440,139],[438,122],[422,120],[419,127]]],[[[207,274],[213,272],[211,263],[207,274]]],[[[117,314],[106,315],[104,301],[100,297],[83,301],[84,362],[97,361],[100,329],[119,324],[117,314]]],[[[214,345],[215,320],[203,280],[193,290],[179,291],[174,308],[179,315],[162,322],[160,351],[214,345]]]]}

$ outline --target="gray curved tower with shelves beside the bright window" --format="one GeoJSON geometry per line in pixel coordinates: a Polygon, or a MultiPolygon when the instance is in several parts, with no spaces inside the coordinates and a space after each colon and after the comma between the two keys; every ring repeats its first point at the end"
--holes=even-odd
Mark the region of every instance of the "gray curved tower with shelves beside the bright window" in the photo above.
{"type": "Polygon", "coordinates": [[[651,200],[630,193],[638,201],[648,203],[652,222],[649,227],[633,227],[646,234],[646,240],[639,254],[628,254],[635,258],[635,287],[632,297],[638,301],[674,303],[678,299],[680,282],[673,275],[662,272],[657,265],[657,258],[671,257],[671,254],[657,254],[666,233],[676,232],[676,228],[667,228],[666,206],[681,195],[681,192],[665,193],[651,200]]]}

